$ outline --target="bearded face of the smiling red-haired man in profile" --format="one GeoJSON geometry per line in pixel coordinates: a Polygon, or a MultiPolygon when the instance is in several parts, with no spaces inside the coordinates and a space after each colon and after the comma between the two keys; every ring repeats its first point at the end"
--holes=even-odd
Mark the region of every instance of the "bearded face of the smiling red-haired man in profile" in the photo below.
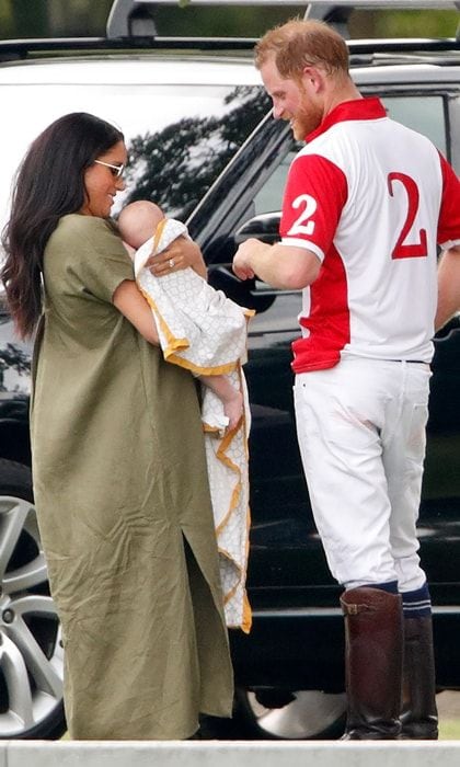
{"type": "Polygon", "coordinates": [[[294,137],[303,141],[306,136],[322,123],[324,113],[321,100],[309,89],[308,77],[302,80],[284,79],[274,58],[261,67],[265,90],[273,101],[275,119],[288,119],[294,137]]]}

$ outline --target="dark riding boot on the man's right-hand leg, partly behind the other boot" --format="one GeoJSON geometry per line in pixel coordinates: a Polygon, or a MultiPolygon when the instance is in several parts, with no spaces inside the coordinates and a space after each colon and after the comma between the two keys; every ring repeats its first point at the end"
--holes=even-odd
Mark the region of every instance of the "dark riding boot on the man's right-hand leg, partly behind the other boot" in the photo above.
{"type": "Polygon", "coordinates": [[[437,741],[432,616],[404,618],[402,740],[437,741]]]}

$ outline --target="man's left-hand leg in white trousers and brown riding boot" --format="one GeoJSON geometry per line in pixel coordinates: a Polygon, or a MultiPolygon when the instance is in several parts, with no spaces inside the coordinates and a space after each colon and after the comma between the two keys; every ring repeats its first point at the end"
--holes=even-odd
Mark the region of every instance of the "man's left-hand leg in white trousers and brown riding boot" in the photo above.
{"type": "Polygon", "coordinates": [[[399,736],[402,613],[380,434],[398,394],[391,364],[346,360],[298,376],[296,417],[313,514],[345,584],[347,739],[399,736]],[[394,593],[392,593],[394,592],[394,593]]]}

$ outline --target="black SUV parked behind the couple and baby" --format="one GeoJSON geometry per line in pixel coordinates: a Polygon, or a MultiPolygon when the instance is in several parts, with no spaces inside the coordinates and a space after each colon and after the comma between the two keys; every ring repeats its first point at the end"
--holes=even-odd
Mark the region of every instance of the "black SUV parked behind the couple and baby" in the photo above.
{"type": "MultiPolygon", "coordinates": [[[[27,142],[59,114],[93,112],[126,133],[130,176],[118,208],[149,197],[186,220],[211,284],[256,310],[245,367],[254,626],[249,636],[231,631],[234,718],[207,718],[203,730],[227,737],[334,736],[344,713],[343,621],[292,417],[290,342],[298,336],[300,293],[240,283],[231,272],[239,242],[277,239],[284,181],[298,146],[289,126],[272,118],[252,65],[254,41],[159,37],[150,11],[162,2],[114,2],[104,38],[0,43],[0,215],[5,219],[4,180],[10,183],[27,142]]],[[[304,5],[341,28],[352,10],[350,2],[304,5]]],[[[349,50],[361,92],[379,95],[392,117],[425,133],[460,171],[459,41],[350,41],[349,50]]],[[[436,337],[419,518],[439,689],[460,689],[459,331],[456,318],[436,337]]],[[[3,305],[0,737],[56,737],[65,729],[59,622],[33,508],[28,388],[30,348],[14,337],[3,305]]]]}

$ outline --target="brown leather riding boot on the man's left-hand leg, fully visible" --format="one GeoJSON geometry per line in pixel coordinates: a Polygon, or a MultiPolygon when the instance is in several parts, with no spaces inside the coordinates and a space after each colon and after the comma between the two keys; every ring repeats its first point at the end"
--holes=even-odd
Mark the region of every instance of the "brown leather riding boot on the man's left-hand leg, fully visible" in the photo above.
{"type": "Polygon", "coordinates": [[[345,616],[345,741],[398,740],[401,732],[401,597],[360,586],[341,597],[345,616]]]}

